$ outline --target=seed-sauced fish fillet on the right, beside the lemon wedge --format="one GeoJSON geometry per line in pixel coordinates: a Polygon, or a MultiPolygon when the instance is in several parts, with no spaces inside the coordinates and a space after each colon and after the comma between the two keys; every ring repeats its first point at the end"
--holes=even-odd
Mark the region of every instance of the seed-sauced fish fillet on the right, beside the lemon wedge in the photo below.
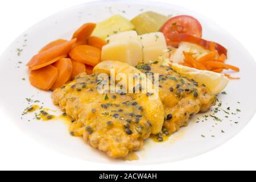
{"type": "Polygon", "coordinates": [[[180,76],[171,67],[158,63],[140,64],[137,68],[147,74],[159,73],[159,97],[164,105],[164,127],[174,133],[187,126],[189,119],[216,104],[216,96],[205,85],[180,76]]]}

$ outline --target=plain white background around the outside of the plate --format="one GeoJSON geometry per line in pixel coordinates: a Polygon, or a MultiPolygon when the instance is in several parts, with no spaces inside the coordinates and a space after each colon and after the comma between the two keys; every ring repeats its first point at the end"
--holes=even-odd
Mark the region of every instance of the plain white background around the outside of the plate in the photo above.
{"type": "MultiPolygon", "coordinates": [[[[157,1],[157,0],[155,0],[157,1]]],[[[0,53],[27,28],[57,11],[86,0],[0,1],[0,53]]],[[[235,36],[256,57],[256,2],[252,0],[162,0],[208,16],[235,36]]],[[[243,60],[241,60],[243,61],[243,60]]],[[[1,73],[0,73],[1,74],[1,73]]],[[[10,73],[11,74],[11,73],[10,73]]],[[[2,76],[2,75],[1,75],[2,76]]],[[[8,77],[6,75],[6,77],[8,77]]],[[[256,78],[255,78],[256,79],[256,78]]],[[[256,84],[256,83],[252,83],[256,84]]],[[[7,89],[2,88],[1,89],[7,89]]],[[[246,89],[246,88],[245,88],[246,89]]],[[[247,90],[255,97],[255,90],[247,90]]],[[[256,117],[228,143],[207,154],[155,166],[113,166],[86,162],[52,151],[22,133],[0,110],[0,169],[40,170],[187,170],[256,169],[256,117]]]]}

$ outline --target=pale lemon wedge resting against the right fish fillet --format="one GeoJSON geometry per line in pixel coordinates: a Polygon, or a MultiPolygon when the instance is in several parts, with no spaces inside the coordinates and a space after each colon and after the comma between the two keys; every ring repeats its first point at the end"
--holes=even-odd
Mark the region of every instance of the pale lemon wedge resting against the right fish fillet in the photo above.
{"type": "Polygon", "coordinates": [[[173,63],[172,69],[189,79],[193,79],[200,84],[204,84],[213,94],[218,94],[226,88],[229,83],[229,78],[221,73],[210,71],[201,71],[199,69],[185,67],[183,65],[173,63]]]}

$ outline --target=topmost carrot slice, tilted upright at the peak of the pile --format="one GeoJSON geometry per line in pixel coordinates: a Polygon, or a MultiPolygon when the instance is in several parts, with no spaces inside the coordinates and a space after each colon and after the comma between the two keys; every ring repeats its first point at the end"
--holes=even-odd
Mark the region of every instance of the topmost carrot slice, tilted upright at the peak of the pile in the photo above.
{"type": "Polygon", "coordinates": [[[81,26],[74,34],[72,39],[77,39],[77,42],[84,42],[90,35],[92,35],[93,30],[96,28],[95,23],[85,23],[81,26]]]}

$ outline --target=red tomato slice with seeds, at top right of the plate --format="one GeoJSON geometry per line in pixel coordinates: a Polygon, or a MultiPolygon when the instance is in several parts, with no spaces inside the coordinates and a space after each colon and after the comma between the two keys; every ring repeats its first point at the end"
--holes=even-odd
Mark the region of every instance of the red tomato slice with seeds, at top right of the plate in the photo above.
{"type": "MultiPolygon", "coordinates": [[[[174,34],[191,34],[201,38],[202,36],[202,26],[200,22],[193,18],[192,16],[188,15],[180,15],[175,16],[168,20],[160,30],[163,32],[164,36],[167,35],[168,37],[174,34]]],[[[172,43],[170,40],[167,39],[167,44],[169,46],[177,47],[176,43],[172,43]]]]}

